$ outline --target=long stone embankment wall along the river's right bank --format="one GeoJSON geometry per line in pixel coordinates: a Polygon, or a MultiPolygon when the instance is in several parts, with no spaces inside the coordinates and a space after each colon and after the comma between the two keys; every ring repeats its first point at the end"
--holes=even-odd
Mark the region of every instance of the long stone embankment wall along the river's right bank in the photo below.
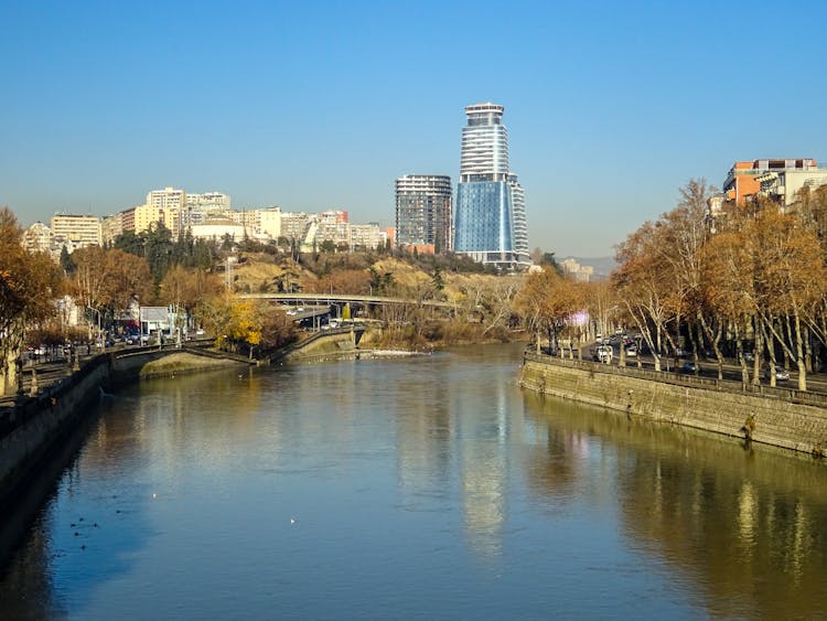
{"type": "MultiPolygon", "coordinates": [[[[777,397],[738,392],[709,382],[692,385],[664,376],[641,376],[598,363],[526,354],[520,385],[546,395],[582,401],[651,420],[672,422],[817,454],[827,449],[827,409],[777,397]]],[[[734,384],[734,383],[732,383],[734,384]]],[[[740,386],[735,384],[735,386],[740,386]]]]}

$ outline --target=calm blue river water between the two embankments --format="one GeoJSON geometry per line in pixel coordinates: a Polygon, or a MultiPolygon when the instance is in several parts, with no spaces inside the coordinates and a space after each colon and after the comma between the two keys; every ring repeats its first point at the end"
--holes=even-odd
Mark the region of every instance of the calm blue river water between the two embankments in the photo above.
{"type": "Polygon", "coordinates": [[[827,615],[827,469],[517,387],[518,346],[129,387],[2,619],[827,615]]]}

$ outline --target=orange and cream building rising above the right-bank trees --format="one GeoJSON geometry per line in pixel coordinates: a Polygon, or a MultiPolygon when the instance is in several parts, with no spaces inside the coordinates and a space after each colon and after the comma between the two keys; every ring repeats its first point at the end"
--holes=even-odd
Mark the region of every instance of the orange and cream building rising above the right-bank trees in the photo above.
{"type": "Polygon", "coordinates": [[[813,159],[764,159],[735,162],[727,174],[722,191],[728,201],[739,206],[753,196],[763,195],[787,207],[802,188],[824,183],[827,183],[827,169],[819,168],[813,159]]]}

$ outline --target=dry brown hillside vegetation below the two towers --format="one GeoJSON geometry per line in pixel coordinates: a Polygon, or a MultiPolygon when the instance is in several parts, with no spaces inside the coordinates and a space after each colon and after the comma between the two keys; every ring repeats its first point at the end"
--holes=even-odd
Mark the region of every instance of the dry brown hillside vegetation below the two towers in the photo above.
{"type": "Polygon", "coordinates": [[[243,253],[230,269],[236,292],[330,292],[407,300],[370,311],[366,319],[380,320],[383,326],[367,336],[376,345],[429,349],[523,335],[512,308],[524,277],[484,274],[465,261],[369,253],[302,256],[297,261],[284,255],[243,253]],[[434,312],[419,304],[427,300],[453,308],[434,312]]]}

